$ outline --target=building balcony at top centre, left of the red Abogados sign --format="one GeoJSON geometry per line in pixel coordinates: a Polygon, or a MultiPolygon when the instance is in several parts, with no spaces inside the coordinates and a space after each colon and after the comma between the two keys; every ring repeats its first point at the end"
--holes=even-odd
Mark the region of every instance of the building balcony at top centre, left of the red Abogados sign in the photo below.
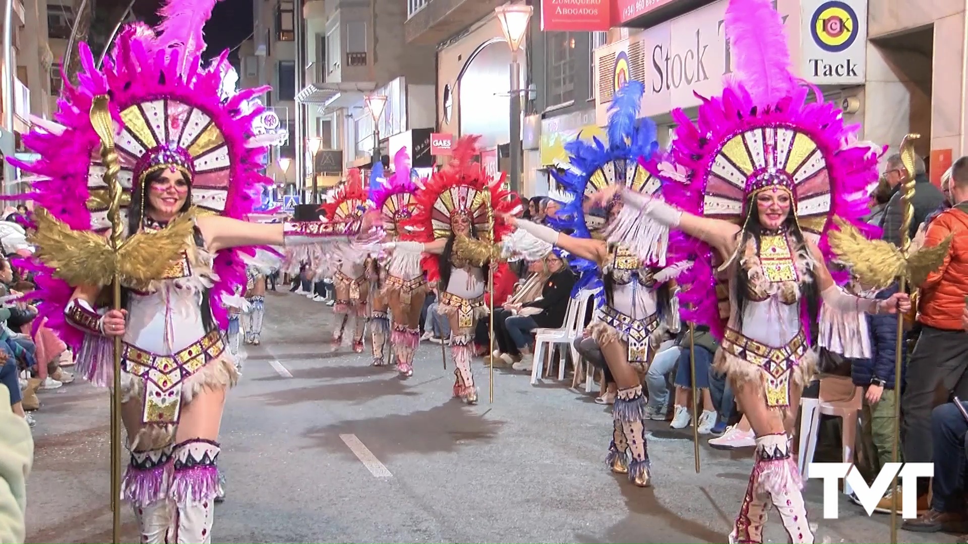
{"type": "Polygon", "coordinates": [[[493,14],[507,0],[407,0],[404,34],[412,44],[437,45],[493,14]]]}

